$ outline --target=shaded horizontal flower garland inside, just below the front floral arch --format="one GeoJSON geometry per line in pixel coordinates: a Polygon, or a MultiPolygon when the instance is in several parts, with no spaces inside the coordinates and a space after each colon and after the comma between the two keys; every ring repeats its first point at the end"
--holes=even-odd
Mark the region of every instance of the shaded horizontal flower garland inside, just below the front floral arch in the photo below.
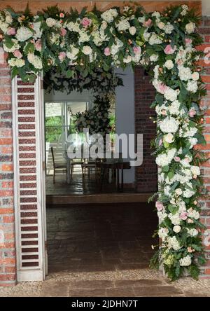
{"type": "Polygon", "coordinates": [[[43,78],[43,87],[47,92],[56,90],[59,92],[71,93],[73,90],[83,92],[92,90],[94,93],[107,94],[114,93],[117,86],[123,86],[123,80],[113,72],[113,69],[104,71],[102,68],[93,69],[91,74],[83,75],[75,67],[71,67],[73,76],[68,78],[66,74],[52,68],[43,78]]]}

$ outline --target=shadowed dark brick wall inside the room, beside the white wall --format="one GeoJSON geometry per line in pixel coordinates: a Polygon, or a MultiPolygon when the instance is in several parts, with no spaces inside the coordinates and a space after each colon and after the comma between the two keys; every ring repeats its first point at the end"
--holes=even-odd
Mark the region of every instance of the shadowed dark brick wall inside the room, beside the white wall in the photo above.
{"type": "Polygon", "coordinates": [[[135,130],[143,134],[143,164],[136,167],[136,186],[139,192],[155,192],[158,187],[157,165],[151,149],[151,139],[155,137],[156,125],[151,116],[155,116],[151,103],[155,99],[155,88],[151,77],[144,69],[135,69],[135,130]],[[149,173],[149,174],[148,174],[149,173]]]}

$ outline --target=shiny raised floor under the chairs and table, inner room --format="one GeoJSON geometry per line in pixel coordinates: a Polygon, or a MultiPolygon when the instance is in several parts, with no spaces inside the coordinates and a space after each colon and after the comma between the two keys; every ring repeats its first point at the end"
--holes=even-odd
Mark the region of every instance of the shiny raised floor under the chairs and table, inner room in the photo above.
{"type": "Polygon", "coordinates": [[[55,184],[52,176],[46,177],[46,202],[47,205],[69,205],[87,203],[120,203],[120,202],[148,202],[153,193],[137,193],[134,188],[125,185],[124,191],[118,191],[116,185],[105,181],[100,188],[99,180],[94,174],[85,176],[74,174],[71,184],[66,184],[65,175],[57,175],[55,184]]]}

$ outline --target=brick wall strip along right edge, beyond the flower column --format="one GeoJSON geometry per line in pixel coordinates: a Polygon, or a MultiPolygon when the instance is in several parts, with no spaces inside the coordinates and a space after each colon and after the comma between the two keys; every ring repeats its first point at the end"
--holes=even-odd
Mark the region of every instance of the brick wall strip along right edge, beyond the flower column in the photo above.
{"type": "MultiPolygon", "coordinates": [[[[199,47],[200,50],[206,50],[210,53],[210,17],[204,17],[202,20],[202,25],[199,29],[200,34],[203,35],[204,44],[199,47]]],[[[206,113],[204,116],[204,136],[207,140],[206,146],[200,146],[207,156],[210,156],[210,55],[207,55],[209,64],[202,60],[200,64],[204,67],[205,71],[202,76],[204,83],[206,83],[207,88],[207,96],[202,99],[202,107],[206,109],[206,113]]],[[[210,161],[202,165],[202,174],[204,177],[204,186],[210,191],[210,161]]],[[[207,230],[204,231],[204,247],[206,249],[206,258],[207,263],[203,267],[202,277],[210,277],[210,197],[207,195],[206,198],[202,198],[202,222],[207,226],[207,230]]]]}

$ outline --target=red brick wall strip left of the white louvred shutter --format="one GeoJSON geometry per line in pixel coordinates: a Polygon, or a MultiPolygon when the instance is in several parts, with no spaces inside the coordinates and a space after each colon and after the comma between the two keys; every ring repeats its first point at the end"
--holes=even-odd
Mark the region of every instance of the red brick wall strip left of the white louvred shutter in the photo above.
{"type": "Polygon", "coordinates": [[[15,284],[13,135],[10,69],[0,63],[0,286],[15,284]]]}

